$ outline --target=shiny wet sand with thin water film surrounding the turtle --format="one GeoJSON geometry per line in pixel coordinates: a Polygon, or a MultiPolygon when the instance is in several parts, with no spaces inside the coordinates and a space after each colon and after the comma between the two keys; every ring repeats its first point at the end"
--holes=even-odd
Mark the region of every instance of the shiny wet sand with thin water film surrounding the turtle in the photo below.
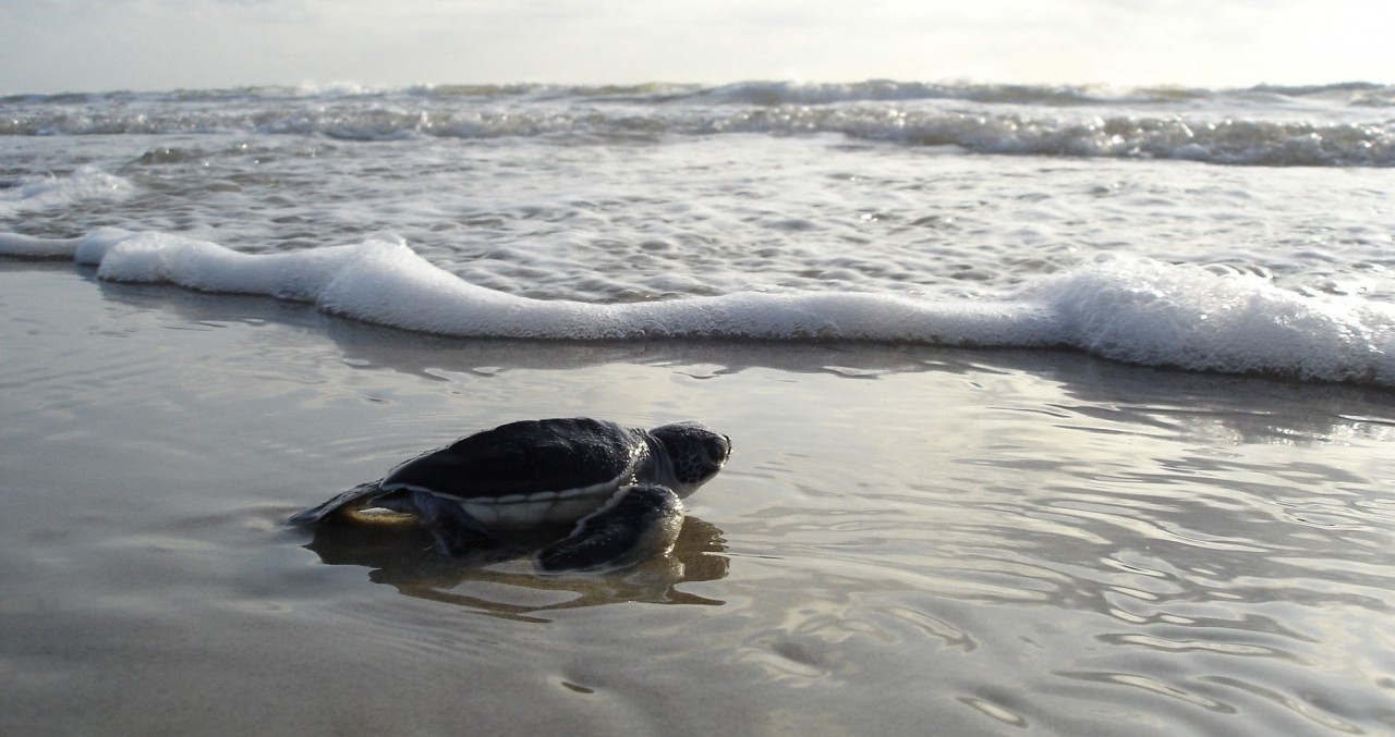
{"type": "Polygon", "coordinates": [[[1395,401],[1069,352],[467,341],[0,265],[0,730],[1395,730],[1395,401]],[[280,521],[522,417],[732,461],[618,574],[280,521]]]}

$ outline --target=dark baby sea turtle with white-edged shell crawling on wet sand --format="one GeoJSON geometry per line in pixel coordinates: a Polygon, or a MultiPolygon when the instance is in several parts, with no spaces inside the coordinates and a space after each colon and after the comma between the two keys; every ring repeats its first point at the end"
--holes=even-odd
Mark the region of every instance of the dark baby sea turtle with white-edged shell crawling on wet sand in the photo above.
{"type": "Polygon", "coordinates": [[[414,514],[456,557],[497,548],[499,534],[571,524],[569,535],[534,553],[537,567],[612,570],[668,552],[681,500],[730,454],[731,439],[698,422],[644,430],[526,419],[418,456],[289,521],[310,525],[370,507],[414,514]]]}

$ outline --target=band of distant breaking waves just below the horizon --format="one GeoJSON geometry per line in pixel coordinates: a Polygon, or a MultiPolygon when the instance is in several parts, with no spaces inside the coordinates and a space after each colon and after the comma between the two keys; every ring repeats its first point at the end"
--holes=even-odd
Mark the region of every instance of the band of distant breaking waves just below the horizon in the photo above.
{"type": "Polygon", "coordinates": [[[410,137],[838,134],[968,152],[1395,166],[1395,86],[1235,91],[742,82],[725,86],[437,85],[10,96],[0,135],[257,132],[410,137]]]}

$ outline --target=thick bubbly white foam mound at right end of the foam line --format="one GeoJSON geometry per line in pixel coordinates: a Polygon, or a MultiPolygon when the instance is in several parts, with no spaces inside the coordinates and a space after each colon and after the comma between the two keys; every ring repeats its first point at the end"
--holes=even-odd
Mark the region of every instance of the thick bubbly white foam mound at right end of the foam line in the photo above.
{"type": "Polygon", "coordinates": [[[1395,386],[1389,305],[1143,258],[1106,258],[1048,277],[1024,297],[1050,305],[1063,343],[1106,358],[1395,386]]]}

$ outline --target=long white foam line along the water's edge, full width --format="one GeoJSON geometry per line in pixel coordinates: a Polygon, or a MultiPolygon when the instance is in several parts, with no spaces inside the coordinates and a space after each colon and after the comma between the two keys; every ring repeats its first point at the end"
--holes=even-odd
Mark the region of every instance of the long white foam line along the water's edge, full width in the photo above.
{"type": "Polygon", "coordinates": [[[167,233],[102,228],[67,240],[0,234],[0,254],[71,258],[95,266],[99,279],[262,294],[445,336],[1069,347],[1141,365],[1395,387],[1395,308],[1144,258],[1103,256],[1000,300],[805,291],[594,304],[470,284],[392,235],[243,254],[167,233]]]}

